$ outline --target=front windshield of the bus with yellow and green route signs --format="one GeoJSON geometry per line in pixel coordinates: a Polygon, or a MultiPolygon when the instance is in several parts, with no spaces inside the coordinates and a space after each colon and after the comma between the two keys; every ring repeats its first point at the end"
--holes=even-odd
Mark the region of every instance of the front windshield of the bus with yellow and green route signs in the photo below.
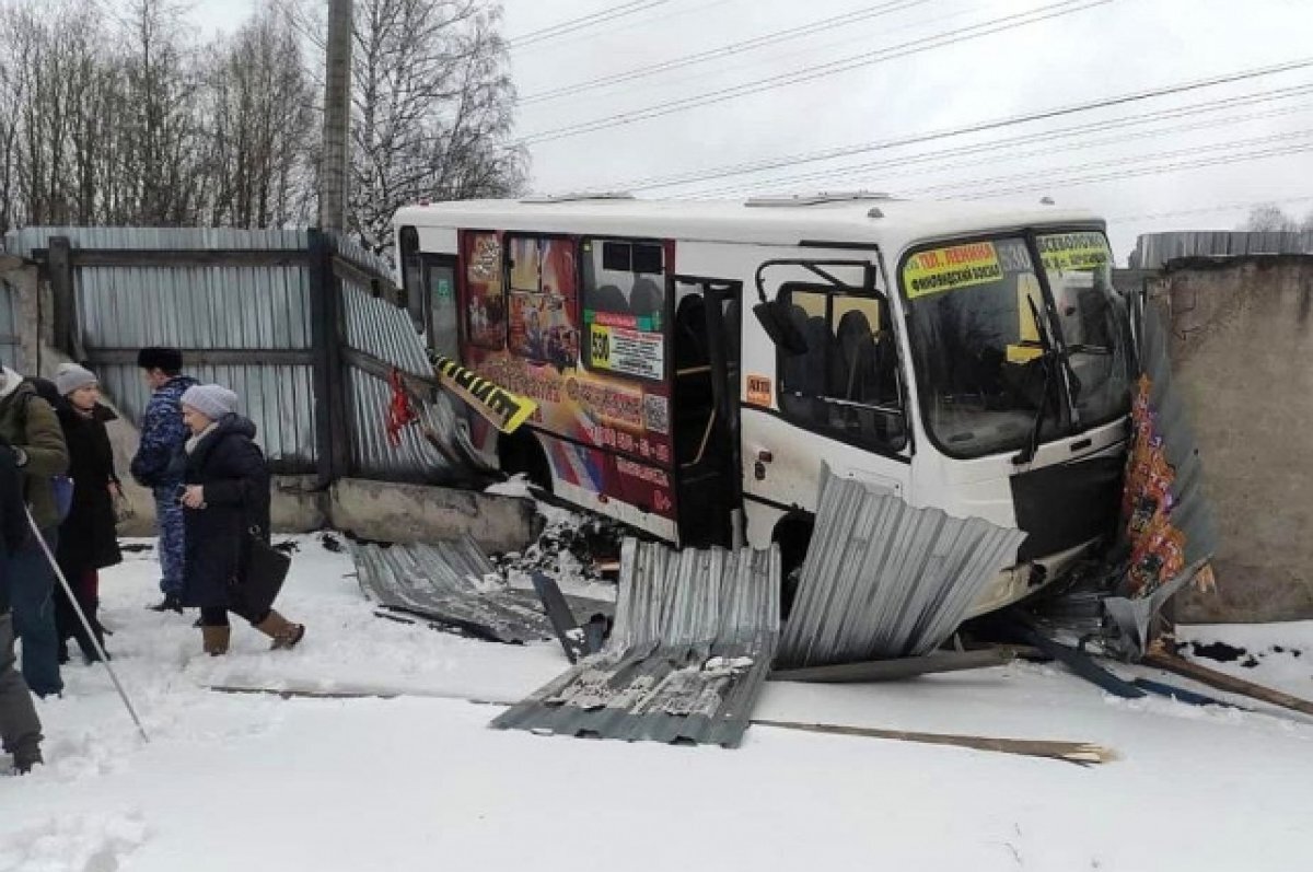
{"type": "Polygon", "coordinates": [[[1043,273],[1022,235],[923,248],[903,264],[926,425],[952,457],[1020,450],[1036,428],[1050,441],[1129,408],[1107,242],[1041,240],[1043,273]]]}

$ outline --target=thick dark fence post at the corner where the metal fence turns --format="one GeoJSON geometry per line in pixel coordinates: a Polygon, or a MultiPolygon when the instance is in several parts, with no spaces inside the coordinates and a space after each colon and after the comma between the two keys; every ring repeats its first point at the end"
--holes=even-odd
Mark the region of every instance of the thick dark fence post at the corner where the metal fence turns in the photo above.
{"type": "Polygon", "coordinates": [[[334,273],[332,240],[309,231],[310,344],[314,351],[315,465],[320,489],[351,474],[351,431],[343,383],[341,281],[334,273]]]}

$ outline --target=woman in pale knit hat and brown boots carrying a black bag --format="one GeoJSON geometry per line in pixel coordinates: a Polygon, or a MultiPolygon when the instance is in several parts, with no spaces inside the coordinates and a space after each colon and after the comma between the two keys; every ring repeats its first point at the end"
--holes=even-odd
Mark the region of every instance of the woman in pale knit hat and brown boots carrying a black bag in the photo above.
{"type": "Polygon", "coordinates": [[[252,441],[255,424],[236,414],[238,395],[219,385],[197,385],[183,394],[183,420],[192,437],[184,447],[183,491],[185,558],[183,604],[201,609],[205,653],[228,650],[228,612],[273,640],[295,646],[306,633],[273,609],[251,612],[240,601],[247,542],[269,541],[269,466],[252,441]]]}

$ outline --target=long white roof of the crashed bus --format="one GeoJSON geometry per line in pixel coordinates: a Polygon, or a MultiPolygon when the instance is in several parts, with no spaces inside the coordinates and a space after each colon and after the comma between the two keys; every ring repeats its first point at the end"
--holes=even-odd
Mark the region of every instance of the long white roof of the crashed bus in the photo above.
{"type": "Polygon", "coordinates": [[[404,206],[394,226],[646,236],[797,246],[877,244],[897,251],[922,239],[1037,225],[1103,226],[1094,213],[1043,204],[910,201],[884,196],[773,200],[463,200],[404,206]]]}

